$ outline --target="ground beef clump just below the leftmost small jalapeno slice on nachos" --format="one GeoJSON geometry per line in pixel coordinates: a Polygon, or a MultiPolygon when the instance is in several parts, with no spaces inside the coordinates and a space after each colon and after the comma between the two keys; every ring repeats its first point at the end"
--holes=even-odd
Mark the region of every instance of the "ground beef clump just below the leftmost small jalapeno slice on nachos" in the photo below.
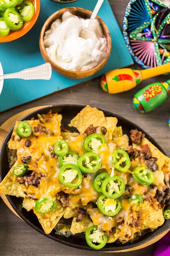
{"type": "Polygon", "coordinates": [[[40,185],[40,178],[42,177],[41,173],[36,171],[29,171],[23,177],[17,177],[17,180],[20,184],[26,184],[26,186],[36,186],[40,185]]]}

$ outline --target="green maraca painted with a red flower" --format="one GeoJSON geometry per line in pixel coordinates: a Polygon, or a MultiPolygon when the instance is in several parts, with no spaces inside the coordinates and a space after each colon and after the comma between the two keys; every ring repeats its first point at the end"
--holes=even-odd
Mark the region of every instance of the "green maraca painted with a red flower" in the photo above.
{"type": "Polygon", "coordinates": [[[170,93],[170,80],[151,83],[139,92],[132,100],[132,104],[141,113],[147,113],[161,105],[170,93]]]}

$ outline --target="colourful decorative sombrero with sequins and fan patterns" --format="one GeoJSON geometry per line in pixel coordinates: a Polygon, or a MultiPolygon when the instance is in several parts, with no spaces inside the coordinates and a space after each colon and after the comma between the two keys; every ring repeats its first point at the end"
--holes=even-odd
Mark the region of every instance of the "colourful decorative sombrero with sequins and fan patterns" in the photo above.
{"type": "Polygon", "coordinates": [[[134,60],[144,68],[170,62],[170,0],[130,0],[123,34],[134,60]]]}

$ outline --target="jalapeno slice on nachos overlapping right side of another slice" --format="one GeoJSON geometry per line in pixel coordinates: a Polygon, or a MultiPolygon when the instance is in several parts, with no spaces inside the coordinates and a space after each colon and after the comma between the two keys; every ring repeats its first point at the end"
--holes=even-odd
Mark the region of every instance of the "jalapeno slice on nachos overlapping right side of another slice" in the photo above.
{"type": "Polygon", "coordinates": [[[102,193],[108,198],[118,198],[124,193],[125,182],[124,179],[115,175],[108,177],[102,183],[102,193]]]}

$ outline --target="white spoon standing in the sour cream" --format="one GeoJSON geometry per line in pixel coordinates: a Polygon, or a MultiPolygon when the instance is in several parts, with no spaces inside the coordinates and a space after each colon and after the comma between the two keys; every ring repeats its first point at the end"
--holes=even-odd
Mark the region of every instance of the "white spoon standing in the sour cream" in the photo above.
{"type": "Polygon", "coordinates": [[[103,2],[104,2],[104,0],[97,1],[95,9],[93,10],[91,18],[89,20],[88,26],[85,29],[82,29],[80,31],[80,34],[79,34],[80,37],[82,37],[84,39],[93,38],[93,30],[91,29],[91,25],[93,24],[93,21],[95,20],[97,13],[98,13],[100,7],[102,6],[103,2]]]}

